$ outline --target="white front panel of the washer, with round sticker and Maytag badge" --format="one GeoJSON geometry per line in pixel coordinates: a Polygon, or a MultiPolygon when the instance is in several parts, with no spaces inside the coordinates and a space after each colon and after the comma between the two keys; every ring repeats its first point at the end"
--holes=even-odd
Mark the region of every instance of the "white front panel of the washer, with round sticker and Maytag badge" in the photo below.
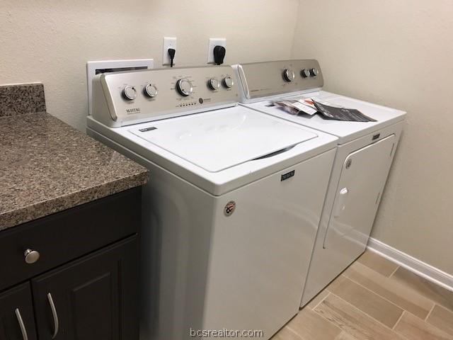
{"type": "Polygon", "coordinates": [[[269,339],[298,312],[334,156],[325,152],[217,199],[204,329],[263,329],[269,339]],[[227,217],[229,201],[236,210],[227,217]]]}

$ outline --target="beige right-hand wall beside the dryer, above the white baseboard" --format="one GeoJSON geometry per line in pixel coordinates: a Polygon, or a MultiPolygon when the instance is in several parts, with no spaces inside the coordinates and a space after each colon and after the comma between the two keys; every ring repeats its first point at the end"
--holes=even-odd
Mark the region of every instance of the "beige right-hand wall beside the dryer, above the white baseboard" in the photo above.
{"type": "Polygon", "coordinates": [[[408,112],[372,237],[453,274],[453,1],[301,0],[292,56],[408,112]]]}

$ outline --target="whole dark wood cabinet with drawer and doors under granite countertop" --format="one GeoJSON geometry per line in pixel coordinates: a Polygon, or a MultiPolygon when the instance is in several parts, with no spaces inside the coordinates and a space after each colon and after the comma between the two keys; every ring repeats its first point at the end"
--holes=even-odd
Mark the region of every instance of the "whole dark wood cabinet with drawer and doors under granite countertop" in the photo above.
{"type": "Polygon", "coordinates": [[[133,188],[0,232],[0,340],[138,340],[140,215],[133,188]]]}

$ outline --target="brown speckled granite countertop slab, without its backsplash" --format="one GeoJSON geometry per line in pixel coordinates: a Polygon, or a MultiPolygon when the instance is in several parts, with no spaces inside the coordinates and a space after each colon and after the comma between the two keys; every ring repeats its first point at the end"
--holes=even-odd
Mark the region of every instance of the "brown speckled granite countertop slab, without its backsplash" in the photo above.
{"type": "Polygon", "coordinates": [[[147,179],[146,168],[52,115],[0,117],[0,230],[147,179]]]}

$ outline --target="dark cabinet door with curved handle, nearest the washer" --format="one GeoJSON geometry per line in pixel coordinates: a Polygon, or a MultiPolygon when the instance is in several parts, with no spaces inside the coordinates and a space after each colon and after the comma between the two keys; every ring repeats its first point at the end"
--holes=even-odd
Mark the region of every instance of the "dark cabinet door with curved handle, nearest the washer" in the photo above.
{"type": "Polygon", "coordinates": [[[32,280],[40,340],[138,339],[138,246],[130,237],[32,280]]]}

